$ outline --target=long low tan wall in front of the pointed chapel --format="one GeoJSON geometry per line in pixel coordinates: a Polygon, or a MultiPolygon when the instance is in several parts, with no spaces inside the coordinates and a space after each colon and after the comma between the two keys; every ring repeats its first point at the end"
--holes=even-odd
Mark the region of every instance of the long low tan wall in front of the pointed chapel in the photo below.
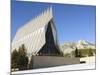
{"type": "Polygon", "coordinates": [[[56,56],[34,56],[33,67],[36,68],[47,68],[61,65],[79,64],[79,58],[66,58],[56,56]]]}

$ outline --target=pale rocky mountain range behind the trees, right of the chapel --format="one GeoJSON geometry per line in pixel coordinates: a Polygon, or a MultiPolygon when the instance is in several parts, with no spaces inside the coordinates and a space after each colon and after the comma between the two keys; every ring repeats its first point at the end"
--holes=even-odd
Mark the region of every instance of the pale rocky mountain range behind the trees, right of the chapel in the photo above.
{"type": "Polygon", "coordinates": [[[79,40],[78,42],[65,42],[60,45],[61,51],[66,54],[74,51],[75,49],[95,49],[95,45],[85,40],[79,40]]]}

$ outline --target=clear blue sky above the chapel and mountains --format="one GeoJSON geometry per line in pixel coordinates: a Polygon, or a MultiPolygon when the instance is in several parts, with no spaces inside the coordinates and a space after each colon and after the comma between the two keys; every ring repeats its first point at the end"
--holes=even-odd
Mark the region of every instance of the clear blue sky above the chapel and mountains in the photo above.
{"type": "Polygon", "coordinates": [[[96,7],[72,4],[50,4],[12,1],[11,33],[14,38],[18,28],[52,6],[54,22],[60,43],[86,40],[95,43],[96,7]]]}

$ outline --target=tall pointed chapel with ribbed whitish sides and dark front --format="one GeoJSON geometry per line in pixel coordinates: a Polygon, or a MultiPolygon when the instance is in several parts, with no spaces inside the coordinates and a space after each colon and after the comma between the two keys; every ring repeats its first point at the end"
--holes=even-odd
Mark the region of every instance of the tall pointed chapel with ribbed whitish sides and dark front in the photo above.
{"type": "Polygon", "coordinates": [[[25,45],[29,56],[38,55],[40,50],[40,55],[41,53],[44,55],[60,53],[52,8],[47,9],[18,29],[12,41],[12,51],[18,50],[22,44],[25,45]]]}

